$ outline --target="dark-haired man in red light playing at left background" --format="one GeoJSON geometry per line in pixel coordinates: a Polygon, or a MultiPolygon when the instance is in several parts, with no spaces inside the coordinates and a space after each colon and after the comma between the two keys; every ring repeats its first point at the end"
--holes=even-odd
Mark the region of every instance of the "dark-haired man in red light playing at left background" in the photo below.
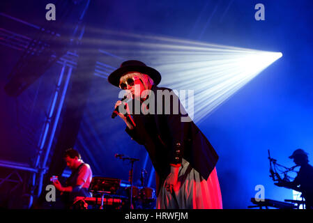
{"type": "Polygon", "coordinates": [[[81,155],[75,149],[66,150],[63,158],[66,165],[72,170],[72,174],[66,180],[66,186],[62,186],[59,180],[53,180],[53,184],[61,194],[66,195],[66,204],[71,206],[76,197],[91,197],[89,185],[93,174],[89,164],[84,163],[81,155]]]}

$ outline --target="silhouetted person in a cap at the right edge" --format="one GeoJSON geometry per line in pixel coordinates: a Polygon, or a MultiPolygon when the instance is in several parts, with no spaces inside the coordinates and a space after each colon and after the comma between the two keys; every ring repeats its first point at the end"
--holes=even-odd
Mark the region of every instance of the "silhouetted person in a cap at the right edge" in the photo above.
{"type": "Polygon", "coordinates": [[[308,154],[303,149],[298,148],[293,151],[289,158],[293,159],[293,162],[300,166],[298,175],[292,182],[280,180],[275,185],[279,187],[287,187],[289,189],[302,192],[302,196],[305,198],[305,208],[313,208],[313,167],[309,164],[308,154]]]}

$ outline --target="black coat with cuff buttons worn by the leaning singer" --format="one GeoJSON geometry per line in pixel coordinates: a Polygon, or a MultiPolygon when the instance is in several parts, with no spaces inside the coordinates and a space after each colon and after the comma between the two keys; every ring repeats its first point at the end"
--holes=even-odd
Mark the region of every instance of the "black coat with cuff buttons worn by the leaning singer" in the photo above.
{"type": "MultiPolygon", "coordinates": [[[[207,179],[218,160],[213,146],[193,121],[181,121],[182,114],[186,114],[183,107],[179,109],[178,114],[173,114],[174,99],[178,100],[175,94],[169,103],[170,114],[165,114],[166,105],[163,97],[163,113],[157,114],[157,105],[160,105],[158,98],[161,98],[157,91],[172,92],[171,89],[153,86],[151,91],[155,95],[155,114],[133,114],[136,127],[133,130],[126,128],[125,131],[137,143],[145,146],[153,167],[160,176],[161,185],[170,172],[170,164],[180,164],[182,158],[190,162],[191,166],[207,179]]],[[[152,105],[148,100],[143,103],[152,105]]],[[[178,103],[181,105],[179,100],[178,103]]],[[[134,102],[131,104],[130,108],[135,106],[134,102]]]]}

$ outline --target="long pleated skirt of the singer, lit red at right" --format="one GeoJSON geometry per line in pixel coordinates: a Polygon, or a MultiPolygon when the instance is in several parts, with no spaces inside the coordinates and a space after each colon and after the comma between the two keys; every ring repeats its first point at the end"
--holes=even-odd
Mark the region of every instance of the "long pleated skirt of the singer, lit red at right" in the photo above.
{"type": "Polygon", "coordinates": [[[222,209],[222,194],[214,168],[208,180],[182,161],[178,172],[179,189],[168,192],[163,184],[157,198],[157,209],[222,209]]]}

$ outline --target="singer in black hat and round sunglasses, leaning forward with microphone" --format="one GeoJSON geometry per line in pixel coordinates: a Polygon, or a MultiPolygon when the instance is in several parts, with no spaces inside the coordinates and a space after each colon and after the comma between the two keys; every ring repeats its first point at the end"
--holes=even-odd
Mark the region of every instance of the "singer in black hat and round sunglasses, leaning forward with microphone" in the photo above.
{"type": "Polygon", "coordinates": [[[191,119],[182,121],[187,113],[171,89],[158,87],[158,70],[141,61],[125,61],[108,81],[131,93],[132,100],[117,101],[114,111],[120,105],[126,107],[126,113],[118,114],[125,121],[125,131],[148,151],[155,168],[157,208],[222,208],[217,153],[191,119]],[[169,102],[157,91],[170,93],[169,102]],[[136,103],[142,112],[130,111],[136,103]]]}

